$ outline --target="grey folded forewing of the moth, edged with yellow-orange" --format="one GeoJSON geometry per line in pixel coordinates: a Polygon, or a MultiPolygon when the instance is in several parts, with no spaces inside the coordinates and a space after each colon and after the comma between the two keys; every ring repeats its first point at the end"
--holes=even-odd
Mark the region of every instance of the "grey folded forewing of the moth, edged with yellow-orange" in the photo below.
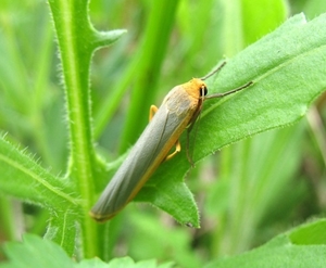
{"type": "MultiPolygon", "coordinates": [[[[111,213],[125,205],[138,181],[156,158],[166,141],[178,129],[180,118],[185,118],[188,114],[189,105],[185,102],[183,104],[171,100],[168,105],[163,103],[160,106],[92,208],[95,213],[111,213]]],[[[163,159],[164,156],[161,161],[163,159]]]]}

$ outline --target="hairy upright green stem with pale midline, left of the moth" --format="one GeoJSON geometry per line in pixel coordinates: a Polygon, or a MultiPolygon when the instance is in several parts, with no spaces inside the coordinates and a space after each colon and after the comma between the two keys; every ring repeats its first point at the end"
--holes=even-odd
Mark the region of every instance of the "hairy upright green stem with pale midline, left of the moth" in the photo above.
{"type": "Polygon", "coordinates": [[[93,194],[95,150],[90,123],[89,65],[92,36],[88,22],[88,1],[49,0],[57,29],[70,126],[70,175],[84,203],[82,239],[85,257],[98,255],[97,228],[87,212],[93,194]]]}

